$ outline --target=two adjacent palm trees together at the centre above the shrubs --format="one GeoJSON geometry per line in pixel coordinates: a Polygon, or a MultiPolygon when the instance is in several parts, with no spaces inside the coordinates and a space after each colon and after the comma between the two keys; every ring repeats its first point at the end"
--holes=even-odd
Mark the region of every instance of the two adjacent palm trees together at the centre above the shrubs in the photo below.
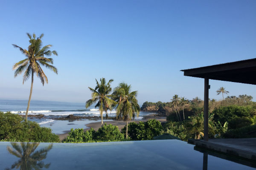
{"type": "Polygon", "coordinates": [[[108,110],[111,111],[113,108],[116,108],[116,118],[121,117],[126,121],[127,139],[128,120],[130,120],[131,117],[134,117],[135,114],[137,114],[137,116],[140,114],[140,106],[136,99],[137,91],[131,92],[131,85],[121,82],[114,88],[113,93],[111,94],[111,82],[113,82],[113,79],[110,79],[108,82],[106,82],[105,78],[101,78],[99,82],[96,79],[96,87],[94,89],[88,87],[92,92],[92,98],[87,100],[85,106],[88,108],[93,105],[93,103],[96,103],[95,108],[99,107],[102,126],[103,112],[105,111],[106,117],[108,117],[108,110]]]}

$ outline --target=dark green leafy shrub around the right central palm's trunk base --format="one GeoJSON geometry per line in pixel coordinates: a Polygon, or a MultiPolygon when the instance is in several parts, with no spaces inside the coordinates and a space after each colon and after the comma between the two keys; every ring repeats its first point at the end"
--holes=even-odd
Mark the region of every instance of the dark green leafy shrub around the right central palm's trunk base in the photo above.
{"type": "MultiPolygon", "coordinates": [[[[128,124],[128,136],[131,140],[153,140],[154,136],[162,133],[163,127],[161,123],[155,119],[150,119],[147,122],[131,122],[128,124]]],[[[126,126],[121,132],[126,133],[126,126]]]]}

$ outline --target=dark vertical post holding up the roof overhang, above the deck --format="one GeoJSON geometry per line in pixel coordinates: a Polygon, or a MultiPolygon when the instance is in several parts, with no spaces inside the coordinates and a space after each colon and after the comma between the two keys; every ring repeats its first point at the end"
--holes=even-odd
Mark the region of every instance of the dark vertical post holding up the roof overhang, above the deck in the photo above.
{"type": "Polygon", "coordinates": [[[209,78],[204,78],[204,140],[208,141],[209,78]]]}

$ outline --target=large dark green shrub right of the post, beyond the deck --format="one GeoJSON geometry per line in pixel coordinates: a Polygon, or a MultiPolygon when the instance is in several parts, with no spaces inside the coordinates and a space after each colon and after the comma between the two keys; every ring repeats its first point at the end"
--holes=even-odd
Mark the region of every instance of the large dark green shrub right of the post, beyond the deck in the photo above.
{"type": "Polygon", "coordinates": [[[244,117],[250,117],[255,115],[255,109],[250,106],[224,106],[212,111],[214,113],[214,121],[220,121],[221,124],[225,122],[229,123],[229,129],[235,129],[237,127],[242,127],[248,125],[248,122],[244,117]],[[237,119],[237,120],[236,120],[237,119]],[[239,125],[240,124],[240,125],[239,125]],[[244,125],[243,125],[244,124],[244,125]]]}

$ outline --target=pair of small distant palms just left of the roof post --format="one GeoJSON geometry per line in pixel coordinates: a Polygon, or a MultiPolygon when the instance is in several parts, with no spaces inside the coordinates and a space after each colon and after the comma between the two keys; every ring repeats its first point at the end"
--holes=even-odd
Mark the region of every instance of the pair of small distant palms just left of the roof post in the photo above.
{"type": "Polygon", "coordinates": [[[178,121],[182,121],[180,117],[180,112],[179,112],[179,106],[182,107],[183,110],[183,120],[185,119],[184,115],[184,106],[189,104],[189,100],[186,99],[185,97],[179,97],[177,94],[175,94],[172,99],[172,105],[175,108],[176,116],[178,121]]]}

